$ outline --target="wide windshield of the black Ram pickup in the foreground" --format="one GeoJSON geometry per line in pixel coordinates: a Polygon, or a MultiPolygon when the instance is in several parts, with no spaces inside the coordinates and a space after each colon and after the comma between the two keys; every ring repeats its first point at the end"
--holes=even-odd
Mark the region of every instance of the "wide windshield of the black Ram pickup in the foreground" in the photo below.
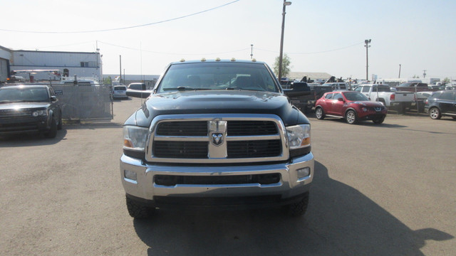
{"type": "Polygon", "coordinates": [[[157,92],[184,90],[257,90],[279,92],[261,63],[182,63],[171,65],[157,92]]]}

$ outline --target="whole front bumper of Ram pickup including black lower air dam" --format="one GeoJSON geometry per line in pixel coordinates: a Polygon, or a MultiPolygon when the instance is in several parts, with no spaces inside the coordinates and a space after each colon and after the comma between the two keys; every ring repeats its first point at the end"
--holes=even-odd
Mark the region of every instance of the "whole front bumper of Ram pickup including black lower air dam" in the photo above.
{"type": "Polygon", "coordinates": [[[152,207],[279,206],[306,196],[314,178],[314,155],[309,153],[278,164],[185,166],[145,164],[124,154],[120,158],[120,175],[127,196],[152,207]],[[298,171],[306,168],[309,175],[299,178],[298,171]],[[160,177],[159,183],[163,183],[162,177],[173,176],[177,182],[160,185],[155,182],[156,176],[160,177]],[[211,177],[214,183],[207,182],[211,177]],[[243,179],[251,183],[242,183],[243,179]]]}

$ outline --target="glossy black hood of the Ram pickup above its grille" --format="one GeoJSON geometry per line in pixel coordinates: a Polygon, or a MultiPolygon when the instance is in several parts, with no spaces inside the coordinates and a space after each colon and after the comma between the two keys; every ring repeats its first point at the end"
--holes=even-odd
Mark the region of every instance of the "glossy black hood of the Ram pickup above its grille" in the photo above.
{"type": "Polygon", "coordinates": [[[286,126],[309,120],[275,92],[246,90],[198,90],[150,95],[125,124],[148,127],[161,114],[276,114],[286,126]]]}

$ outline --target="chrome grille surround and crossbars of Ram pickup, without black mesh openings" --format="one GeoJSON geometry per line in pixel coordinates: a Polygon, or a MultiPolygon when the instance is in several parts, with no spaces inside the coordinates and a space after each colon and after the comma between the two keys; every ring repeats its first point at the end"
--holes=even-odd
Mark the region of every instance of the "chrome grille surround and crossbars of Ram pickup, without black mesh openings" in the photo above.
{"type": "MultiPolygon", "coordinates": [[[[185,133],[185,132],[183,132],[185,133]]],[[[286,129],[284,123],[275,114],[168,114],[160,115],[152,120],[149,128],[149,138],[145,149],[145,160],[160,163],[187,163],[187,164],[224,164],[224,163],[253,163],[264,161],[285,161],[289,159],[289,145],[286,139],[286,129]],[[273,122],[276,126],[275,134],[263,135],[234,135],[230,136],[227,127],[230,121],[236,122],[273,122]],[[207,134],[201,136],[170,136],[157,134],[157,127],[164,122],[207,122],[207,134]],[[230,158],[227,154],[227,144],[229,142],[266,142],[276,140],[279,142],[280,150],[276,156],[261,156],[252,158],[230,158]],[[154,142],[172,142],[179,144],[184,142],[207,143],[207,157],[205,158],[167,158],[158,157],[154,154],[154,142]]],[[[160,155],[160,154],[159,154],[160,155]]]]}

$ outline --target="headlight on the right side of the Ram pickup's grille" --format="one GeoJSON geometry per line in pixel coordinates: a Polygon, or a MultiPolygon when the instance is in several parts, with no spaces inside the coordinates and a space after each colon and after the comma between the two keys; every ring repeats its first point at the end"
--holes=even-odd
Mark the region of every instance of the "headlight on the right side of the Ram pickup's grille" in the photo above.
{"type": "Polygon", "coordinates": [[[299,124],[286,127],[291,156],[308,154],[311,151],[311,125],[299,124]]]}

